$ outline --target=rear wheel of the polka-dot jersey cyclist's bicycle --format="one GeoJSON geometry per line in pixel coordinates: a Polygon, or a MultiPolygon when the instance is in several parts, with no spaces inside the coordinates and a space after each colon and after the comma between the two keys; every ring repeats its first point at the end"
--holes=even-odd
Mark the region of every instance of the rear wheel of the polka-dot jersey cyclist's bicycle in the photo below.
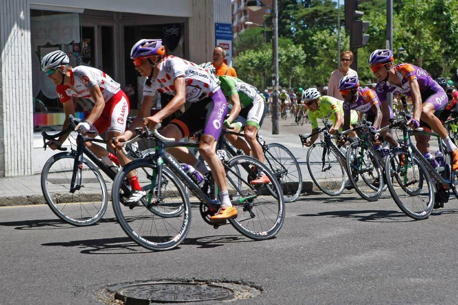
{"type": "Polygon", "coordinates": [[[284,199],[274,174],[257,159],[248,156],[232,158],[225,164],[225,170],[229,197],[238,211],[237,218],[229,220],[234,228],[254,240],[275,236],[284,221],[284,199]],[[250,177],[256,175],[258,168],[269,177],[269,184],[250,185],[250,177]],[[241,186],[234,184],[233,181],[240,179],[241,186]],[[272,195],[267,188],[280,196],[272,195]]]}

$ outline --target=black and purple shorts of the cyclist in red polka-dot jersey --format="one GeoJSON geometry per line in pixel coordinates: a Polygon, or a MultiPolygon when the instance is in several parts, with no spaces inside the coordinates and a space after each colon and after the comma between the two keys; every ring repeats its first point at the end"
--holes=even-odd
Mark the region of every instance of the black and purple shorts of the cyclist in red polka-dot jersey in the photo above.
{"type": "Polygon", "coordinates": [[[211,97],[192,103],[188,110],[170,124],[180,129],[183,138],[203,129],[203,135],[210,135],[218,140],[226,113],[226,98],[221,89],[218,89],[211,97]]]}

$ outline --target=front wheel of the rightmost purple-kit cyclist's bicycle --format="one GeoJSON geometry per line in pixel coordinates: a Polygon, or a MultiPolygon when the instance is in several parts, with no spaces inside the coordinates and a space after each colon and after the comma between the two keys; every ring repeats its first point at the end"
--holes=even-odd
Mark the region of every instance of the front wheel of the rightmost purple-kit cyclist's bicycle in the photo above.
{"type": "Polygon", "coordinates": [[[404,148],[394,149],[385,161],[385,174],[394,202],[407,216],[421,220],[431,215],[434,187],[418,157],[404,148]]]}

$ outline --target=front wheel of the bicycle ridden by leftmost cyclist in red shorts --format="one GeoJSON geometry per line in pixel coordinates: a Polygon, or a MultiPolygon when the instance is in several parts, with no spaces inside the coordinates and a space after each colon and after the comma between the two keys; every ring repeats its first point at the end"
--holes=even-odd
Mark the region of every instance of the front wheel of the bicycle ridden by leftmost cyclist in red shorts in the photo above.
{"type": "Polygon", "coordinates": [[[90,226],[105,214],[108,205],[106,185],[99,170],[83,158],[81,188],[71,193],[75,160],[71,153],[49,158],[41,172],[41,190],[46,203],[60,219],[74,226],[90,226]]]}

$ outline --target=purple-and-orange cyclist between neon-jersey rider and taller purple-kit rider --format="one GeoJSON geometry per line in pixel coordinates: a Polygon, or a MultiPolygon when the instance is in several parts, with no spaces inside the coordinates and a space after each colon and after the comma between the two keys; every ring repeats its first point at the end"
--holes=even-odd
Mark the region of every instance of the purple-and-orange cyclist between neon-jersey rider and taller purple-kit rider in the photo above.
{"type": "MultiPolygon", "coordinates": [[[[360,87],[358,76],[343,77],[338,83],[338,88],[342,98],[344,98],[344,130],[350,129],[350,110],[358,110],[361,113],[365,113],[366,120],[372,123],[370,128],[374,134],[377,129],[389,125],[389,119],[394,117],[393,111],[388,103],[382,105],[372,89],[360,87]]],[[[399,146],[390,133],[384,133],[382,136],[393,145],[393,147],[399,146]]],[[[345,137],[343,138],[345,139],[345,137]]],[[[383,139],[379,139],[379,142],[382,144],[383,139]]],[[[380,145],[374,145],[374,148],[376,148],[379,153],[382,153],[380,145]]],[[[382,156],[385,154],[388,154],[388,151],[383,151],[382,156]]]]}

